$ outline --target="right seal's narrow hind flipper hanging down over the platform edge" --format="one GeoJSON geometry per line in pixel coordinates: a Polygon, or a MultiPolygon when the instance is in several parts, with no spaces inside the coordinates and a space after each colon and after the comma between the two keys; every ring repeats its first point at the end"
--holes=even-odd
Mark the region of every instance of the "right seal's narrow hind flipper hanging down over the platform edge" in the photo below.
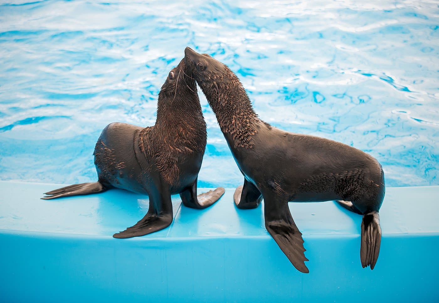
{"type": "Polygon", "coordinates": [[[372,211],[363,216],[361,222],[361,248],[360,259],[364,267],[374,269],[378,260],[381,245],[381,227],[378,211],[372,211]]]}

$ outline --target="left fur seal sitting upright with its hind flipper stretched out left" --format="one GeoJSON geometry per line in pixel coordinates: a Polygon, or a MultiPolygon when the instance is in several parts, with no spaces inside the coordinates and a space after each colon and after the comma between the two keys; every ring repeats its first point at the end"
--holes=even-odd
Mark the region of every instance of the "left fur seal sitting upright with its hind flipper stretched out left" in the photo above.
{"type": "Polygon", "coordinates": [[[191,208],[215,203],[224,193],[222,187],[197,196],[207,132],[195,81],[185,68],[182,60],[169,72],[158,94],[154,126],[111,123],[104,128],[94,149],[97,182],[55,189],[42,199],[112,188],[147,194],[148,213],[136,225],[113,235],[115,238],[147,235],[169,226],[172,194],[179,193],[183,204],[191,208]]]}

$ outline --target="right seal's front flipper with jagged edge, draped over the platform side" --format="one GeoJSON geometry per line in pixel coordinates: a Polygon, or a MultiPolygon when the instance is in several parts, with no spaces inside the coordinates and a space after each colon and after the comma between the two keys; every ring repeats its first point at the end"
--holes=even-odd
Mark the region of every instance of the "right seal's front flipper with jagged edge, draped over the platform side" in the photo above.
{"type": "Polygon", "coordinates": [[[303,247],[302,233],[291,217],[288,202],[278,202],[264,198],[265,227],[277,245],[288,257],[291,264],[303,273],[309,273],[305,265],[306,259],[303,247]]]}

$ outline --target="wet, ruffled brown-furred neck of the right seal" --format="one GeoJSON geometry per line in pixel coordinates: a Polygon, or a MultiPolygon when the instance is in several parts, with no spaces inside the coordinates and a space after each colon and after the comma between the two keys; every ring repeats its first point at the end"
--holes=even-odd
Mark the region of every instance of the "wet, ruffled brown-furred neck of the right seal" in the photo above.
{"type": "Polygon", "coordinates": [[[230,147],[249,148],[262,122],[239,79],[213,82],[209,88],[200,85],[218,120],[219,128],[230,147]],[[203,89],[204,87],[204,89],[203,89]]]}

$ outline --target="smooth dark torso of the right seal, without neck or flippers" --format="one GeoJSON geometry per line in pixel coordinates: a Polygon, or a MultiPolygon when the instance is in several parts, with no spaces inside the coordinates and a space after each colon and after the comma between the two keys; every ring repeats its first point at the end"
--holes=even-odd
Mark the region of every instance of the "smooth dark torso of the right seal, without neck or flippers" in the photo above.
{"type": "Polygon", "coordinates": [[[329,139],[284,132],[264,123],[259,124],[252,143],[252,148],[231,148],[238,167],[245,178],[286,201],[365,199],[359,205],[362,212],[381,206],[381,165],[361,150],[329,139]]]}

